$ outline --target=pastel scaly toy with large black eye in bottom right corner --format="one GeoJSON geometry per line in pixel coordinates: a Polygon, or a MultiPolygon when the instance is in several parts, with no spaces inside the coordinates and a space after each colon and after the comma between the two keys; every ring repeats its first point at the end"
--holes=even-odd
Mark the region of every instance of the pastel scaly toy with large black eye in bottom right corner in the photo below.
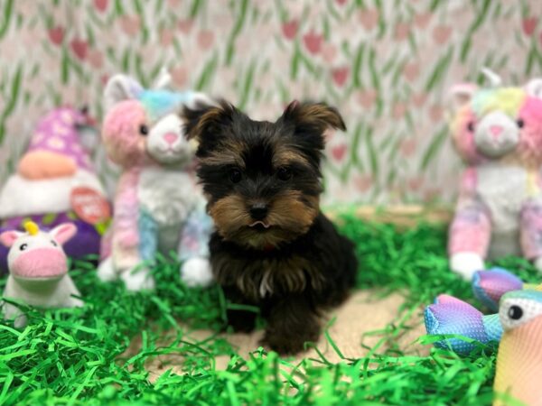
{"type": "Polygon", "coordinates": [[[504,334],[497,354],[494,404],[542,405],[542,291],[512,291],[500,300],[504,334]],[[516,403],[514,403],[516,404],[516,403]]]}

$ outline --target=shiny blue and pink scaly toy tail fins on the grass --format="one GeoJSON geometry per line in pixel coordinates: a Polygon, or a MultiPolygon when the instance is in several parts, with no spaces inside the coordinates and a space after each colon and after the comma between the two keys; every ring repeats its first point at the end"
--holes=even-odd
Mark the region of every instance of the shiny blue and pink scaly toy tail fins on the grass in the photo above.
{"type": "MultiPolygon", "coordinates": [[[[475,272],[472,278],[474,296],[488,309],[497,312],[501,297],[509,291],[542,291],[542,284],[528,284],[512,273],[493,268],[475,272]]],[[[499,341],[502,325],[498,313],[483,315],[471,304],[448,295],[440,295],[425,309],[425,328],[430,335],[460,335],[481,343],[499,341]]],[[[476,345],[460,338],[446,338],[435,346],[452,348],[460,354],[470,353],[476,345]]]]}

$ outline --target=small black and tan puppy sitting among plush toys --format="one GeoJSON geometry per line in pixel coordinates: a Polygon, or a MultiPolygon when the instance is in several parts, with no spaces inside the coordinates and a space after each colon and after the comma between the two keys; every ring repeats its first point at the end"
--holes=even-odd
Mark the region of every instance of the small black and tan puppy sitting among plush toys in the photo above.
{"type": "MultiPolygon", "coordinates": [[[[296,353],[318,339],[322,309],[346,298],[357,272],[353,245],[319,208],[323,133],[345,129],[341,115],[293,102],[275,123],[253,121],[224,101],[183,115],[217,229],[215,278],[230,301],[261,309],[268,346],[296,353]]],[[[254,328],[253,312],[228,316],[238,330],[254,328]]]]}

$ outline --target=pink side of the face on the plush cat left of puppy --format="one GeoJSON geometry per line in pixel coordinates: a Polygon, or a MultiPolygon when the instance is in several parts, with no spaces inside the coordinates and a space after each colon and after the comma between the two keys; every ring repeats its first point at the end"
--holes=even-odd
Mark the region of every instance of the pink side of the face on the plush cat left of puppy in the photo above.
{"type": "Polygon", "coordinates": [[[147,125],[145,120],[145,109],[139,101],[126,100],[111,108],[102,129],[111,161],[125,168],[147,161],[145,135],[140,134],[141,125],[147,125]]]}

